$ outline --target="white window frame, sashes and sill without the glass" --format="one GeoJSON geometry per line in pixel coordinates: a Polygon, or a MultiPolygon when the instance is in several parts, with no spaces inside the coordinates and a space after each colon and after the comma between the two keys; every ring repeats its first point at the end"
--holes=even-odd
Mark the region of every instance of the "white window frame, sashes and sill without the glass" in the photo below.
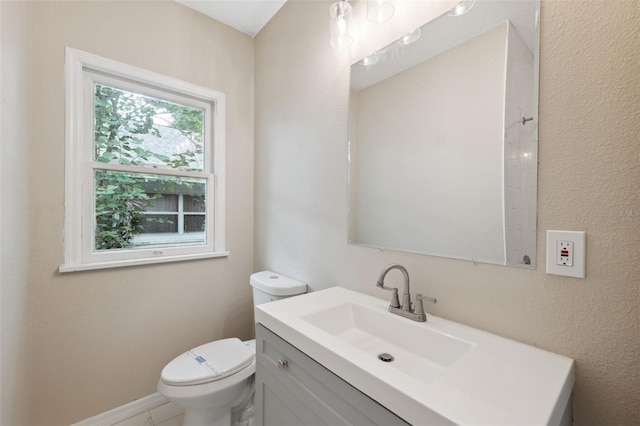
{"type": "Polygon", "coordinates": [[[113,268],[228,256],[225,245],[225,95],[172,77],[66,48],[66,138],[64,263],[60,272],[113,268]],[[172,93],[205,109],[204,173],[148,170],[152,175],[193,176],[207,181],[206,242],[166,247],[95,250],[94,170],[136,171],[131,166],[97,163],[93,158],[93,81],[135,85],[136,92],[170,99],[172,93]],[[141,88],[142,91],[141,91],[141,88]],[[87,95],[89,91],[89,95],[87,95]],[[158,92],[159,91],[159,92],[158,92]],[[168,98],[169,97],[169,98],[168,98]],[[90,101],[91,100],[91,101],[90,101]]]}

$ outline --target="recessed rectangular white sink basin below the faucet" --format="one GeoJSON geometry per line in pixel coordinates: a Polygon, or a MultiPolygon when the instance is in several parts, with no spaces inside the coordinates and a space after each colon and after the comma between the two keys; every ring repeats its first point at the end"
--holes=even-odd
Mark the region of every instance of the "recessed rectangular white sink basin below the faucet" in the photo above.
{"type": "Polygon", "coordinates": [[[364,357],[379,359],[380,354],[390,354],[390,367],[425,382],[473,348],[469,342],[420,327],[419,323],[354,303],[342,303],[301,319],[353,346],[364,357]]]}

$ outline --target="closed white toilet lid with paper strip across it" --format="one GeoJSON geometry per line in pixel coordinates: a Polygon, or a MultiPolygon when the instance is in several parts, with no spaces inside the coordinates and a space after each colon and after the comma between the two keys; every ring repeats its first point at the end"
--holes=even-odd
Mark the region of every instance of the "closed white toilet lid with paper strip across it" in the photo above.
{"type": "Polygon", "coordinates": [[[237,373],[251,364],[254,356],[238,338],[216,340],[177,356],[160,377],[168,385],[208,383],[237,373]]]}

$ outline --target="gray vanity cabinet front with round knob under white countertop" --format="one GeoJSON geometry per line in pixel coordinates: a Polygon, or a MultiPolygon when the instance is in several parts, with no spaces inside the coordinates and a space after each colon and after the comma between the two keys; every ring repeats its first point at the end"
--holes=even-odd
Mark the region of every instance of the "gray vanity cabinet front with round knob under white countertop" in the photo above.
{"type": "Polygon", "coordinates": [[[258,426],[408,424],[260,324],[256,360],[258,426]]]}

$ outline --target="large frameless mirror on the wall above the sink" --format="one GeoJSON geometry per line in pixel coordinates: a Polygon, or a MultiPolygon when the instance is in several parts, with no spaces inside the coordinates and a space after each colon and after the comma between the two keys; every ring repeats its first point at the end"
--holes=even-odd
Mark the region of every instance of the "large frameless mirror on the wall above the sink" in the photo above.
{"type": "Polygon", "coordinates": [[[351,66],[349,242],[532,268],[539,1],[452,15],[351,66]]]}

